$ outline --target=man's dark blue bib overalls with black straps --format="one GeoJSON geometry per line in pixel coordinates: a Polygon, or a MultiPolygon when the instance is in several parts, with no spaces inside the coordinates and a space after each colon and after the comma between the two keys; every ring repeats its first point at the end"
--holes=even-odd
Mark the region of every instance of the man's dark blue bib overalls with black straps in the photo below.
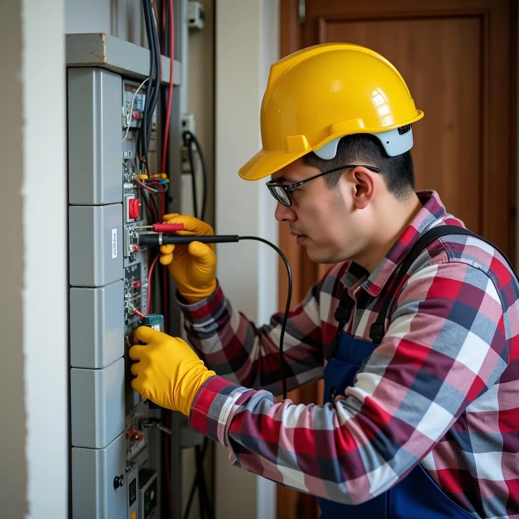
{"type": "MultiPolygon", "coordinates": [[[[346,387],[353,386],[354,377],[362,362],[371,356],[384,336],[387,311],[405,272],[426,245],[446,234],[477,236],[465,228],[442,225],[433,227],[420,237],[412,251],[407,254],[399,274],[390,286],[383,308],[370,328],[370,338],[373,342],[356,339],[343,330],[354,305],[348,291],[344,290],[335,311],[335,319],[339,323],[337,335],[324,368],[324,403],[333,403],[336,395],[344,395],[346,387]]],[[[319,506],[321,519],[474,519],[473,515],[443,493],[421,464],[400,483],[369,501],[347,505],[319,499],[319,506]]]]}

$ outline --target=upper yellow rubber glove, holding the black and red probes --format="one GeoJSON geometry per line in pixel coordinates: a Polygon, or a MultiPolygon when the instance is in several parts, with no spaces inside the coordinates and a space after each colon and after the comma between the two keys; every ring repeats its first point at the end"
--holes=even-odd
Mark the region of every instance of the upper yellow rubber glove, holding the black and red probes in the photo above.
{"type": "MultiPolygon", "coordinates": [[[[194,216],[165,214],[164,223],[183,223],[185,236],[212,236],[213,228],[194,216]]],[[[190,304],[198,303],[216,290],[216,254],[214,243],[193,241],[188,245],[161,245],[160,263],[168,265],[177,289],[190,304]]]]}

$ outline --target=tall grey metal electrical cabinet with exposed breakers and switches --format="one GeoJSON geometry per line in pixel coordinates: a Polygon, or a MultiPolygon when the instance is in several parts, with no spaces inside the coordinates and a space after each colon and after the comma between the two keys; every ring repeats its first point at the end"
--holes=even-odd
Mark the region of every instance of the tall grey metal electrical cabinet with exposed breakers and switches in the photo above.
{"type": "MultiPolygon", "coordinates": [[[[136,155],[149,51],[70,34],[66,57],[72,517],[158,519],[161,436],[146,427],[156,411],[131,389],[128,359],[152,261],[136,236],[150,223],[136,155]]],[[[167,84],[168,58],[162,71],[167,84]]],[[[150,163],[156,128],[154,112],[150,163]]]]}

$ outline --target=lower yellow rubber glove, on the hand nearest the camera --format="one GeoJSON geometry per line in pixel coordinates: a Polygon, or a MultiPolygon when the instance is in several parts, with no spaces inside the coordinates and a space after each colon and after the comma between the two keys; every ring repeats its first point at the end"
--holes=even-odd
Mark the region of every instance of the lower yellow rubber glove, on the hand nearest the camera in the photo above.
{"type": "Polygon", "coordinates": [[[181,338],[139,326],[133,335],[131,387],[146,400],[189,416],[203,383],[214,376],[181,338]],[[141,343],[146,343],[142,345],[141,343]]]}

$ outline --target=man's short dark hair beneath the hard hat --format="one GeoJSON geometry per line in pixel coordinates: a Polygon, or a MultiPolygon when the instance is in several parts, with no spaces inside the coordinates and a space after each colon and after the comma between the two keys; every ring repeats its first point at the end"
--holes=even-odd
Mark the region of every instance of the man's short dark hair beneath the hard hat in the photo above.
{"type": "MultiPolygon", "coordinates": [[[[383,176],[389,192],[399,200],[405,200],[415,188],[411,152],[390,157],[380,141],[374,135],[366,133],[346,135],[340,139],[337,153],[333,159],[321,159],[315,153],[310,152],[303,156],[303,162],[321,172],[356,162],[375,166],[380,169],[379,174],[383,176]]],[[[343,172],[339,170],[325,175],[327,185],[334,188],[343,172]]]]}

